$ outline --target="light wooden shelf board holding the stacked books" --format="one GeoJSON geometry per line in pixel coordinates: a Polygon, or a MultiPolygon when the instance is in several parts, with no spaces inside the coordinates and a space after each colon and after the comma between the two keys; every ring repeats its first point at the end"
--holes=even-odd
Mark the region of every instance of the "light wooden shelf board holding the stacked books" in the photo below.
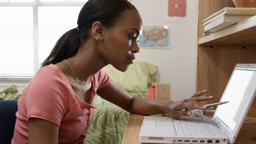
{"type": "Polygon", "coordinates": [[[198,39],[205,46],[256,46],[256,15],[198,39]]]}

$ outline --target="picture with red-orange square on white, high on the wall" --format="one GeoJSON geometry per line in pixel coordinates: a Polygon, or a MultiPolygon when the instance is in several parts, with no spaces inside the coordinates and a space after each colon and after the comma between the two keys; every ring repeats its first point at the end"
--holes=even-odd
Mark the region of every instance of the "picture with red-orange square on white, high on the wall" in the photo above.
{"type": "Polygon", "coordinates": [[[189,0],[166,0],[165,22],[187,22],[189,0]]]}

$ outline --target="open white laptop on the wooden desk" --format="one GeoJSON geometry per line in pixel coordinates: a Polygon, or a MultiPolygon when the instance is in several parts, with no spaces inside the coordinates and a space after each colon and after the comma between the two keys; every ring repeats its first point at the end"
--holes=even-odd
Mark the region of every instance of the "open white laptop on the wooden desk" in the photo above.
{"type": "Polygon", "coordinates": [[[234,143],[255,98],[256,64],[236,64],[212,118],[145,116],[141,143],[234,143]]]}

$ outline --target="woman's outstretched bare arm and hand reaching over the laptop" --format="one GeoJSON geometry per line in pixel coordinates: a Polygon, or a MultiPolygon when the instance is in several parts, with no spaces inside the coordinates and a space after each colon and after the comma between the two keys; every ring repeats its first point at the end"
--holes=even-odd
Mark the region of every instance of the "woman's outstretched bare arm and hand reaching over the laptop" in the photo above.
{"type": "Polygon", "coordinates": [[[111,80],[110,84],[98,90],[97,94],[131,113],[143,115],[168,113],[172,117],[180,117],[192,114],[191,111],[182,112],[183,108],[214,109],[215,107],[205,108],[199,103],[199,101],[213,99],[213,96],[200,96],[206,92],[197,92],[190,99],[164,102],[135,97],[111,80]]]}

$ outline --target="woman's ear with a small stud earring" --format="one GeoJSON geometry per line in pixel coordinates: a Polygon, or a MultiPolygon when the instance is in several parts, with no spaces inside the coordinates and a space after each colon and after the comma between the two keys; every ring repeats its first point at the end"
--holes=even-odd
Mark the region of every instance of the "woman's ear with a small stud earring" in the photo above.
{"type": "Polygon", "coordinates": [[[103,40],[103,29],[104,26],[99,21],[96,21],[92,24],[92,36],[96,41],[103,40]]]}

